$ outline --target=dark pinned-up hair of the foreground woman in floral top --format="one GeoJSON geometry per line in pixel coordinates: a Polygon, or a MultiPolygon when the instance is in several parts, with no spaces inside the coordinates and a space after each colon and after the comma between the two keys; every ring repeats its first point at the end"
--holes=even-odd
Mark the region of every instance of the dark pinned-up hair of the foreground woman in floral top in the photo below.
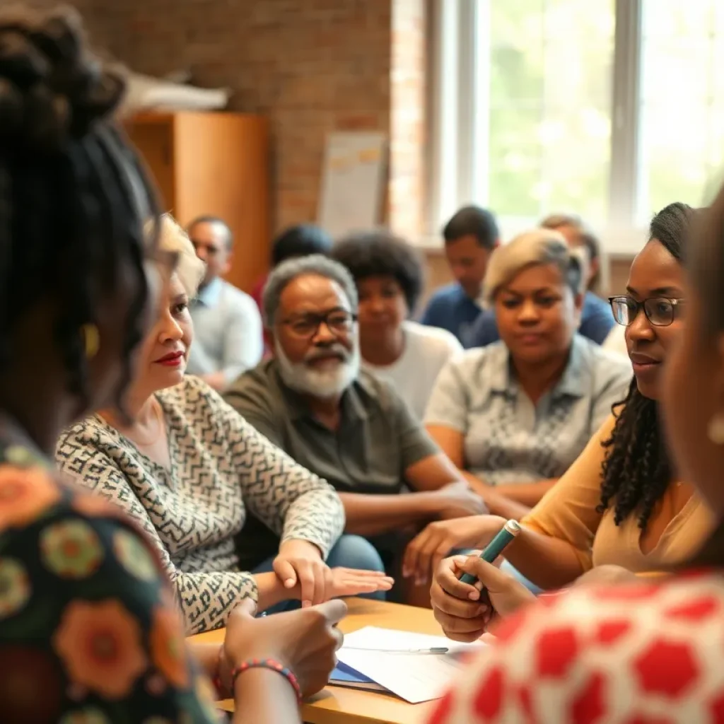
{"type": "Polygon", "coordinates": [[[138,293],[125,321],[121,403],[143,336],[143,259],[158,234],[151,182],[110,119],[124,91],[122,74],[90,54],[74,10],[0,12],[0,371],[15,327],[49,295],[70,391],[83,403],[83,325],[130,265],[138,293]]]}

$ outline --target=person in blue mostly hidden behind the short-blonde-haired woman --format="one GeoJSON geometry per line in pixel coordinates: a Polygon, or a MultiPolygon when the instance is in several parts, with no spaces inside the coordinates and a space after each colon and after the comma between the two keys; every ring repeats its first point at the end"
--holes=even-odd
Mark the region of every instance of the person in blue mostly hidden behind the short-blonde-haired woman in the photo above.
{"type": "MultiPolygon", "coordinates": [[[[587,229],[578,216],[555,214],[541,222],[542,229],[560,232],[572,249],[581,249],[586,256],[586,293],[581,309],[581,321],[578,332],[589,340],[602,344],[608,333],[615,327],[608,303],[594,293],[601,269],[601,251],[599,240],[587,229]]],[[[485,347],[497,342],[500,333],[494,309],[486,309],[471,329],[467,347],[485,347]]]]}

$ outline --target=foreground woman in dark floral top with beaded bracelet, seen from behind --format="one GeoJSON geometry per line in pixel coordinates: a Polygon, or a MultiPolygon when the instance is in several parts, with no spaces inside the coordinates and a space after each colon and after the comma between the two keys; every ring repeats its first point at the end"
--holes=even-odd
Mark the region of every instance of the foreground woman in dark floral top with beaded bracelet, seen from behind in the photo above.
{"type": "MultiPolygon", "coordinates": [[[[211,724],[174,598],[146,537],[67,487],[49,454],[99,406],[123,407],[135,349],[172,255],[154,194],[109,121],[122,78],[67,9],[0,11],[0,720],[211,724]]],[[[162,285],[161,285],[162,282],[162,285]]],[[[194,647],[240,704],[235,723],[298,724],[334,665],[345,605],[230,615],[223,647],[194,647]],[[232,689],[232,691],[231,691],[232,689]]]]}

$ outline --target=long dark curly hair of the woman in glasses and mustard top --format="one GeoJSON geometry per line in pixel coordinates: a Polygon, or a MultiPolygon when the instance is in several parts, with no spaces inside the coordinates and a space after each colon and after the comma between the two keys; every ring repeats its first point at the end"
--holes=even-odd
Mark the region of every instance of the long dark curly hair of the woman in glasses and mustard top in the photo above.
{"type": "MultiPolygon", "coordinates": [[[[659,240],[681,261],[693,212],[685,203],[669,204],[652,219],[649,240],[659,240]]],[[[617,526],[632,513],[638,513],[643,530],[673,476],[660,429],[658,404],[641,395],[633,379],[626,399],[615,406],[615,414],[611,437],[603,442],[607,453],[597,510],[603,513],[613,504],[617,526]]]]}

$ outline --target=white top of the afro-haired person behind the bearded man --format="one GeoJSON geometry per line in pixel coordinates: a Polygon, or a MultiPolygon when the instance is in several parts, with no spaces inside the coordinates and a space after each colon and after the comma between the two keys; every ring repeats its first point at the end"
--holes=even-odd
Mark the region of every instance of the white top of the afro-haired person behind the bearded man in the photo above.
{"type": "Polygon", "coordinates": [[[416,321],[404,321],[403,332],[405,350],[397,361],[384,367],[362,361],[362,366],[392,383],[421,420],[439,371],[453,355],[463,353],[463,346],[446,329],[426,327],[416,321]]]}

